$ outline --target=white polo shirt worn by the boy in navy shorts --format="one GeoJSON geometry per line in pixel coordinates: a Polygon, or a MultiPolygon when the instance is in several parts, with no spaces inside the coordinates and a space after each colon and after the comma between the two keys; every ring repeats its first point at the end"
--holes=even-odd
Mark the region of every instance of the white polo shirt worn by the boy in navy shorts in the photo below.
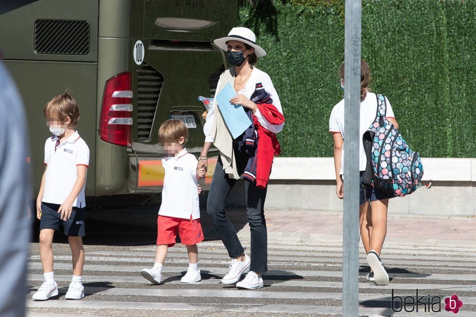
{"type": "MultiPolygon", "coordinates": [[[[43,202],[61,205],[71,194],[77,179],[77,166],[89,166],[89,148],[76,131],[67,140],[60,143],[54,150],[57,136],[45,142],[46,170],[45,191],[43,202]]],[[[73,207],[85,207],[85,186],[73,202],[73,207]]]]}

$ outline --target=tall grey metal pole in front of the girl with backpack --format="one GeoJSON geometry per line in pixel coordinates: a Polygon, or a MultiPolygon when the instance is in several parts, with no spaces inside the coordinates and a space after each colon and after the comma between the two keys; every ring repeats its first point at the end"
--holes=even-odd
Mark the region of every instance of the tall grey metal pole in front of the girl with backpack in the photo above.
{"type": "Polygon", "coordinates": [[[361,0],[345,0],[342,316],[358,316],[361,0]]]}

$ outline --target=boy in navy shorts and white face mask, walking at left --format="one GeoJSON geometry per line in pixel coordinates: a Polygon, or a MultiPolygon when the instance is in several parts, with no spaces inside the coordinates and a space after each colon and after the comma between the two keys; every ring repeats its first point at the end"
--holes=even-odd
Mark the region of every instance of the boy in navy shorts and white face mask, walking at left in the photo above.
{"type": "Polygon", "coordinates": [[[45,281],[33,295],[48,300],[58,295],[53,273],[53,234],[63,225],[72,253],[73,277],[67,300],[85,296],[82,284],[85,251],[85,182],[89,149],[75,130],[79,107],[66,92],[54,97],[43,109],[47,125],[54,135],[45,143],[45,172],[36,199],[36,217],[40,219],[40,256],[45,281]]]}

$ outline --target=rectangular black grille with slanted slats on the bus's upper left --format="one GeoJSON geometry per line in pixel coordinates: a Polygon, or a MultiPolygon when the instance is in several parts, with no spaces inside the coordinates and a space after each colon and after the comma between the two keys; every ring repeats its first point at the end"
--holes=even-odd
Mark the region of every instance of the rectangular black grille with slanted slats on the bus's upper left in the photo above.
{"type": "Polygon", "coordinates": [[[89,23],[71,20],[36,20],[34,51],[40,54],[86,55],[89,23]]]}

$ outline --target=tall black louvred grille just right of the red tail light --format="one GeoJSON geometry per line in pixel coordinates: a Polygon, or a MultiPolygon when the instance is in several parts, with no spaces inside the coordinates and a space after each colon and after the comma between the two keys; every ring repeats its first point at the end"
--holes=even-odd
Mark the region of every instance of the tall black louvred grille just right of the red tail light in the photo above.
{"type": "Polygon", "coordinates": [[[153,117],[157,109],[164,77],[153,67],[142,63],[137,70],[137,140],[150,140],[153,117]]]}

